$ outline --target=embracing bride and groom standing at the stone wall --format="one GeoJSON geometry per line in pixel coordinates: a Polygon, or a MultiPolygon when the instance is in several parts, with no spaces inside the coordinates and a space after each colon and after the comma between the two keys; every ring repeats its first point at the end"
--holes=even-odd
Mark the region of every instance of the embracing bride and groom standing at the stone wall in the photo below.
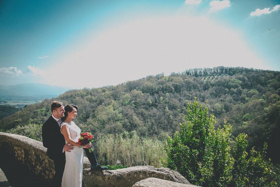
{"type": "Polygon", "coordinates": [[[62,102],[53,101],[53,114],[42,127],[43,146],[47,148],[47,155],[55,165],[54,186],[82,186],[83,149],[90,160],[92,171],[108,169],[97,163],[94,152],[89,152],[90,144],[79,146],[81,129],[72,121],[76,118],[77,109],[75,105],[64,107],[62,102]]]}

